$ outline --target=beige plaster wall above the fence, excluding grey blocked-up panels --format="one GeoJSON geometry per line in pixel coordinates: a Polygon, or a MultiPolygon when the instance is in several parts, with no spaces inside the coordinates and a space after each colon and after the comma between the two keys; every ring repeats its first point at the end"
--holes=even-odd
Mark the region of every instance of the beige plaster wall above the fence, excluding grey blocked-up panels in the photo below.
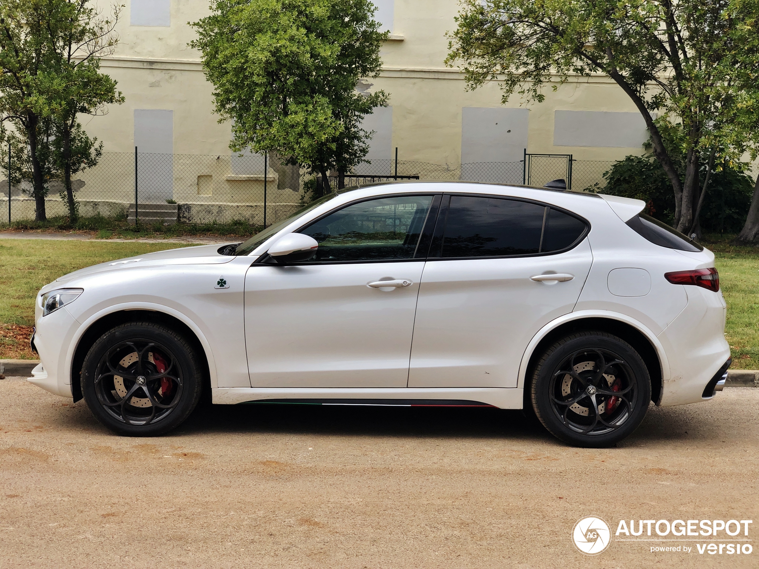
{"type": "MultiPolygon", "coordinates": [[[[405,160],[435,164],[461,162],[461,109],[499,108],[496,83],[467,92],[463,75],[443,64],[448,52],[446,32],[454,29],[456,0],[377,0],[391,5],[392,39],[383,46],[383,71],[370,80],[374,89],[390,93],[392,146],[405,160]]],[[[106,144],[106,152],[134,151],[134,110],[174,112],[176,154],[229,154],[229,128],[213,114],[213,86],[205,80],[200,54],[187,43],[194,30],[187,25],[208,14],[207,0],[127,0],[118,24],[121,42],[115,55],[104,58],[103,71],[118,80],[124,105],[112,105],[104,117],[86,118],[88,132],[106,144]],[[168,2],[170,26],[131,25],[132,10],[146,2],[168,2]]],[[[388,24],[389,26],[390,24],[388,24]]],[[[518,95],[508,107],[524,107],[518,95]]],[[[529,108],[528,152],[573,154],[577,159],[612,160],[640,147],[554,146],[556,110],[630,112],[635,106],[611,80],[581,77],[559,86],[546,85],[546,102],[529,108]]],[[[263,172],[262,172],[263,173],[263,172]]]]}

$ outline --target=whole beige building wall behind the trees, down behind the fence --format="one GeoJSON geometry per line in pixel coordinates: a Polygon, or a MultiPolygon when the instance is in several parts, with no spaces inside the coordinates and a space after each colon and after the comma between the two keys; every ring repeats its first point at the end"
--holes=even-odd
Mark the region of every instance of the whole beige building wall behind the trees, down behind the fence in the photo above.
{"type": "MultiPolygon", "coordinates": [[[[402,162],[399,174],[465,178],[465,169],[460,167],[464,159],[467,163],[509,162],[511,178],[492,181],[521,182],[518,161],[524,146],[527,152],[572,154],[583,162],[584,173],[575,170],[573,175],[577,188],[578,184],[586,187],[600,180],[608,161],[643,152],[639,125],[638,134],[628,137],[629,146],[609,146],[603,136],[625,130],[608,121],[619,117],[642,121],[622,90],[606,77],[578,77],[560,85],[556,93],[551,85],[546,85],[546,101],[540,104],[524,105],[515,95],[502,105],[498,83],[468,92],[461,71],[444,64],[448,53],[446,33],[455,27],[457,0],[375,2],[379,6],[377,17],[391,36],[382,49],[380,76],[363,81],[359,88],[386,90],[392,108],[367,118],[367,124],[378,132],[370,152],[373,163],[362,165],[361,172],[389,174],[397,147],[402,162]],[[504,108],[526,110],[509,114],[499,110],[504,108]],[[562,112],[591,112],[591,115],[562,115],[562,112]],[[603,115],[604,112],[628,115],[603,115]],[[499,117],[512,115],[528,116],[527,121],[515,122],[524,131],[512,131],[505,129],[503,123],[497,124],[499,117]],[[465,124],[467,117],[479,117],[480,122],[465,124]],[[573,140],[581,143],[575,145],[573,140]],[[505,151],[507,146],[509,152],[505,151]],[[487,152],[480,156],[480,149],[487,152]]],[[[188,22],[209,14],[208,4],[208,0],[125,0],[116,28],[120,42],[113,55],[102,59],[102,71],[118,81],[126,102],[110,105],[105,115],[82,117],[87,132],[102,140],[106,152],[100,165],[78,176],[85,182],[78,199],[91,203],[90,209],[109,202],[107,208],[100,207],[106,214],[116,207],[113,204],[134,200],[137,140],[142,141],[143,152],[171,155],[156,159],[154,162],[162,165],[153,168],[164,168],[161,175],[165,174],[168,183],[160,184],[172,187],[164,187],[161,193],[147,198],[146,193],[141,193],[140,200],[173,199],[195,204],[198,212],[210,211],[213,204],[227,204],[234,212],[236,204],[252,206],[263,202],[263,164],[255,171],[235,168],[235,158],[228,148],[229,125],[219,123],[218,115],[213,113],[213,86],[203,74],[200,54],[187,46],[194,39],[194,29],[188,22]],[[138,121],[137,127],[144,129],[145,111],[171,112],[159,113],[172,118],[168,120],[168,134],[163,132],[155,137],[158,149],[150,149],[154,142],[150,132],[136,136],[136,113],[142,112],[142,122],[138,121]],[[159,139],[162,142],[157,142],[159,139]]],[[[104,4],[103,9],[110,8],[104,4]]],[[[147,157],[140,159],[140,168],[150,168],[147,157]]],[[[150,171],[141,171],[150,178],[150,171]]],[[[560,175],[550,174],[549,179],[556,177],[560,175]]],[[[298,185],[297,175],[282,180],[290,181],[280,184],[275,169],[269,168],[267,206],[287,212],[300,201],[300,188],[289,188],[298,185]]],[[[50,197],[55,200],[55,196],[50,197]]],[[[243,217],[260,222],[260,210],[249,208],[243,217]]]]}

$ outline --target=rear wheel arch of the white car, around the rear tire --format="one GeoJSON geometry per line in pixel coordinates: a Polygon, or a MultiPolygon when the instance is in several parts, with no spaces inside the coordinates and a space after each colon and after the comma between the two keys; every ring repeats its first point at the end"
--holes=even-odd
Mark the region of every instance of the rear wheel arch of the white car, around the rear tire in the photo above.
{"type": "Polygon", "coordinates": [[[648,369],[651,379],[651,401],[660,404],[664,381],[669,379],[669,363],[664,349],[656,335],[641,322],[617,313],[572,313],[543,326],[532,338],[519,366],[518,387],[524,388],[524,401],[528,401],[527,378],[531,376],[543,351],[559,338],[574,332],[591,330],[616,335],[635,348],[648,369]]]}

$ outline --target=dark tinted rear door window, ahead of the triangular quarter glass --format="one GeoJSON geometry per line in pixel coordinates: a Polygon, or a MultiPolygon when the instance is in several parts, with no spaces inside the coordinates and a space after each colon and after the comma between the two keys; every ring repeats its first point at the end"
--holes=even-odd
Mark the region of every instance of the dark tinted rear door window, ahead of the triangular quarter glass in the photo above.
{"type": "Polygon", "coordinates": [[[545,209],[516,200],[451,196],[440,256],[538,253],[545,209]]]}

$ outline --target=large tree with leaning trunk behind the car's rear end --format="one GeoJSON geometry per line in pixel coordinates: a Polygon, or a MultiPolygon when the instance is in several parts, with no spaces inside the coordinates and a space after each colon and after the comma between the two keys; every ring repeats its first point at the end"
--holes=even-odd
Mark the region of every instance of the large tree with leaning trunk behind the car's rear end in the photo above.
{"type": "Polygon", "coordinates": [[[696,227],[701,166],[756,154],[757,0],[463,0],[446,63],[468,88],[500,82],[503,96],[542,102],[543,87],[606,74],[650,131],[675,197],[674,224],[696,227]],[[658,121],[655,113],[662,115],[658,121]],[[675,127],[681,174],[660,132],[675,127]]]}

